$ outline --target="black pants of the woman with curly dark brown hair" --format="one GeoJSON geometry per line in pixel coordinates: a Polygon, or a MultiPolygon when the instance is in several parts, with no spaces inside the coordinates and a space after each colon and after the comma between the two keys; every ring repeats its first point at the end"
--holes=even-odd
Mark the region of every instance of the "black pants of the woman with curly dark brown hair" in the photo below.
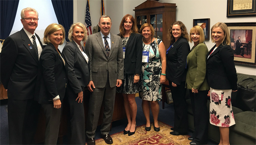
{"type": "Polygon", "coordinates": [[[179,133],[187,133],[188,131],[188,116],[187,116],[187,103],[185,99],[186,88],[185,81],[182,81],[177,87],[171,85],[171,94],[174,104],[174,128],[179,133]]]}

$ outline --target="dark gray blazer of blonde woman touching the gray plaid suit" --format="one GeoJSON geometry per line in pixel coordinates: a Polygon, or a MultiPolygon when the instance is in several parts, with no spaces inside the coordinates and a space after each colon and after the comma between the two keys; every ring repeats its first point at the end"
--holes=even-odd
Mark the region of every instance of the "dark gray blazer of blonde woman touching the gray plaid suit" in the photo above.
{"type": "MultiPolygon", "coordinates": [[[[84,48],[83,52],[85,53],[84,48]]],[[[68,84],[74,93],[77,94],[82,91],[81,86],[86,87],[90,81],[90,61],[88,63],[86,62],[75,41],[68,42],[64,46],[62,55],[66,61],[66,65],[68,65],[68,84]]],[[[88,56],[87,53],[86,55],[88,56]]]]}

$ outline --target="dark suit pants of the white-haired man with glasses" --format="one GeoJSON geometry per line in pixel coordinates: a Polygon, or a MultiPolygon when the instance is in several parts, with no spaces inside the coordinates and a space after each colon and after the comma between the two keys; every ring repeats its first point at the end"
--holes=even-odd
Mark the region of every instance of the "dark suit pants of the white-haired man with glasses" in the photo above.
{"type": "Polygon", "coordinates": [[[8,98],[8,125],[10,145],[35,144],[40,104],[34,99],[8,98]]]}

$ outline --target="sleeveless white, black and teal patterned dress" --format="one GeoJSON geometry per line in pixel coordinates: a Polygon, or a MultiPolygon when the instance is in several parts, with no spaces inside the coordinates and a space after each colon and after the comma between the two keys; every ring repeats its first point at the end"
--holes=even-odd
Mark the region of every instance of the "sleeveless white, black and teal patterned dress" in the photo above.
{"type": "MultiPolygon", "coordinates": [[[[157,39],[158,45],[162,41],[157,39]]],[[[147,101],[156,101],[162,99],[162,84],[160,76],[162,72],[162,64],[160,62],[159,48],[156,39],[151,44],[143,43],[143,51],[149,51],[148,62],[142,63],[142,90],[140,98],[147,101]]]]}

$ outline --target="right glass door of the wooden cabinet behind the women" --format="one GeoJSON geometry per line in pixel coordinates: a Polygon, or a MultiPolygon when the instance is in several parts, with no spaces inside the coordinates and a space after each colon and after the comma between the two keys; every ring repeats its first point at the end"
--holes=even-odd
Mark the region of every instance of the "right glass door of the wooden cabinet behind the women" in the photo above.
{"type": "Polygon", "coordinates": [[[163,14],[150,15],[150,24],[155,30],[155,36],[158,39],[163,39],[163,14]]]}

